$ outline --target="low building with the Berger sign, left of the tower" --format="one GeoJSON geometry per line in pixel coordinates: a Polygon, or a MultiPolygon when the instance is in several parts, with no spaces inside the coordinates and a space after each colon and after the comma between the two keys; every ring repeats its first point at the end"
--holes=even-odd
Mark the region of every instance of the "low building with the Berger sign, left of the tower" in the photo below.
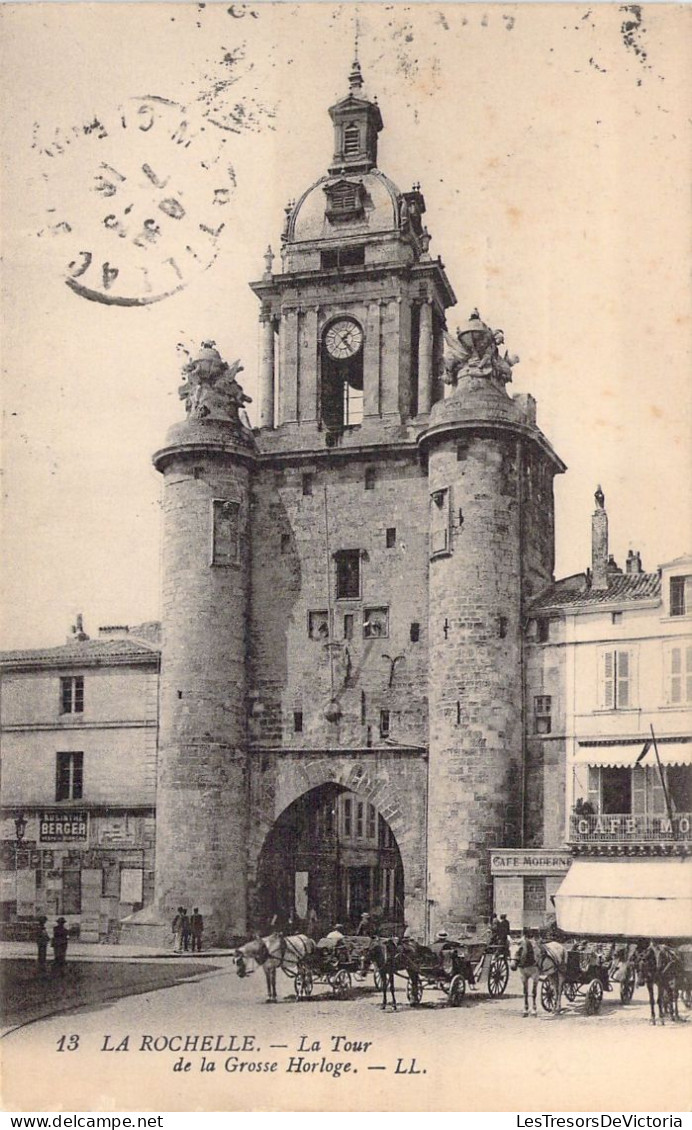
{"type": "Polygon", "coordinates": [[[85,941],[114,940],[152,901],[158,627],[89,640],[79,617],[61,646],[0,653],[6,937],[60,914],[85,941]]]}

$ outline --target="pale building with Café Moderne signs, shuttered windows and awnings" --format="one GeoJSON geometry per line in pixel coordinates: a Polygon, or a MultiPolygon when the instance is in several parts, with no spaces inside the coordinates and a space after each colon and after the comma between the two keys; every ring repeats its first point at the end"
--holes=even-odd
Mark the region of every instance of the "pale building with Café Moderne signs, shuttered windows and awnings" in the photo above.
{"type": "Polygon", "coordinates": [[[529,610],[527,844],[566,845],[573,862],[540,890],[540,876],[525,876],[514,903],[538,924],[560,890],[559,922],[576,932],[648,933],[656,914],[664,932],[683,921],[690,932],[692,557],[648,573],[630,550],[623,572],[607,523],[599,488],[591,568],[529,610]]]}

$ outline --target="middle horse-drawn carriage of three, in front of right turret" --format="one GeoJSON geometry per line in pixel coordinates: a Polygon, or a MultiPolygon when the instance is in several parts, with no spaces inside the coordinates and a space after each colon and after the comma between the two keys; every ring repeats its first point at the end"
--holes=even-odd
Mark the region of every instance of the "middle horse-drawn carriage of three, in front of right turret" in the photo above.
{"type": "Polygon", "coordinates": [[[509,963],[499,946],[446,941],[412,947],[407,974],[406,996],[412,1005],[419,1005],[429,988],[442,991],[456,1007],[466,997],[467,985],[477,989],[484,981],[491,997],[501,997],[509,981],[509,963]]]}

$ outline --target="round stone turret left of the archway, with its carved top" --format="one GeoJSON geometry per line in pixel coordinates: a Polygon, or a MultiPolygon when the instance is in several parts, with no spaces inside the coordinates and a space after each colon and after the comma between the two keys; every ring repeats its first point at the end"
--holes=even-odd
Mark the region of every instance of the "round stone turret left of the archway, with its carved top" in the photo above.
{"type": "Polygon", "coordinates": [[[245,930],[245,635],[252,433],[248,398],[207,345],[184,368],[188,419],[154,457],[164,476],[156,906],[198,906],[205,938],[245,930]]]}

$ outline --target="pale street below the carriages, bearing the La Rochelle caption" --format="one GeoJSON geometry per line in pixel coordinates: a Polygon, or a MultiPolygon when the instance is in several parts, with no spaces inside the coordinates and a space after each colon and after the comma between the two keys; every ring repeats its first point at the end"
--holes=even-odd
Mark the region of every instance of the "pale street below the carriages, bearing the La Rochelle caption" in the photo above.
{"type": "Polygon", "coordinates": [[[10,1032],[1,1045],[5,1106],[103,1112],[690,1106],[692,1025],[651,1027],[642,990],[628,1007],[616,992],[607,994],[595,1017],[576,1003],[559,1018],[539,1010],[537,1018],[525,1019],[516,976],[502,999],[468,993],[460,1008],[426,991],[422,1007],[413,1009],[398,981],[395,1014],[381,1011],[370,988],[335,1000],[315,986],[310,1000],[296,1001],[282,974],[279,1001],[270,1006],[261,974],[241,980],[227,957],[197,965],[192,982],[10,1032]]]}

